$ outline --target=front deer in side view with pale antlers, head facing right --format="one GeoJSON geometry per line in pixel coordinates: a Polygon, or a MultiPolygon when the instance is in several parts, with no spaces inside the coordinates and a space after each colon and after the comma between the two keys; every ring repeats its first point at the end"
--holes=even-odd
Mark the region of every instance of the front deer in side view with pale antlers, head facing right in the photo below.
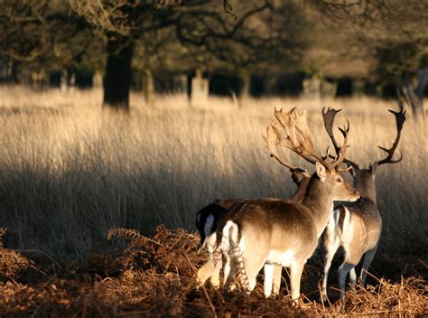
{"type": "Polygon", "coordinates": [[[315,164],[316,172],[299,202],[250,201],[228,213],[217,231],[218,248],[232,261],[228,283],[237,271],[238,284],[248,291],[256,286],[262,267],[265,279],[273,276],[274,266],[290,267],[292,298],[297,301],[304,264],[330,220],[333,201],[356,201],[359,194],[338,173],[348,146],[349,127],[342,130],[344,142],[339,155],[327,162],[314,149],[304,112],[298,115],[294,108],[287,114],[275,110],[274,117],[265,136],[272,156],[279,159],[278,146],[289,148],[315,164]]]}

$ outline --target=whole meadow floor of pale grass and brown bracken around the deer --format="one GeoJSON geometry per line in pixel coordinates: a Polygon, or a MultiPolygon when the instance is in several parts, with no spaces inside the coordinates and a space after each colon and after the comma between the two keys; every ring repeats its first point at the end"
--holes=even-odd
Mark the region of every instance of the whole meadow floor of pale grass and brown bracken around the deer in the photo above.
{"type": "MultiPolygon", "coordinates": [[[[347,156],[367,167],[384,155],[377,145],[389,147],[395,139],[395,119],[386,111],[395,103],[263,98],[238,104],[209,98],[190,105],[175,95],[147,106],[133,94],[129,114],[120,114],[102,109],[101,98],[100,89],[0,87],[0,228],[7,228],[0,229],[0,295],[5,295],[0,315],[428,311],[426,117],[407,115],[399,145],[403,161],[377,170],[384,228],[369,285],[334,302],[337,257],[330,271],[331,304],[320,304],[321,258],[315,253],[303,271],[302,301],[293,306],[285,272],[286,290],[277,299],[265,299],[260,284],[251,295],[209,286],[196,290],[195,271],[206,257],[198,250],[195,213],[216,198],[293,193],[289,172],[269,157],[261,137],[274,107],[306,109],[321,151],[329,143],[321,108],[343,108],[336,121],[342,126],[348,118],[351,125],[347,156]],[[107,231],[116,228],[136,229],[145,237],[119,229],[109,232],[116,235],[112,243],[107,231]],[[126,248],[129,235],[134,241],[128,246],[139,248],[126,248]]],[[[283,155],[313,171],[296,154],[283,155]]]]}

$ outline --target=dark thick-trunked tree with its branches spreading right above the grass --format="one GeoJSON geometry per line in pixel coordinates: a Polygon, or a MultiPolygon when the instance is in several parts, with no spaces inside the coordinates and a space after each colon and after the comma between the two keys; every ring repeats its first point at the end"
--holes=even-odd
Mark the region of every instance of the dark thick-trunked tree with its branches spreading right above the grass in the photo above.
{"type": "Polygon", "coordinates": [[[279,48],[293,47],[284,30],[267,21],[278,10],[273,1],[248,1],[232,8],[228,1],[89,1],[70,5],[107,38],[104,104],[128,108],[135,42],[160,30],[173,31],[182,45],[198,48],[219,61],[244,67],[266,60],[279,48]]]}

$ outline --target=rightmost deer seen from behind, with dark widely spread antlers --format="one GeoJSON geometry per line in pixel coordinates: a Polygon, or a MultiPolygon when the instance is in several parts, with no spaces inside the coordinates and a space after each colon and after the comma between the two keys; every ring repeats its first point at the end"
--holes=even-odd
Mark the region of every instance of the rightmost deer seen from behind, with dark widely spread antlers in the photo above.
{"type": "MultiPolygon", "coordinates": [[[[322,109],[325,128],[337,152],[340,151],[340,146],[334,138],[332,126],[334,117],[339,111],[329,108],[324,112],[324,109],[322,109]]],[[[357,279],[355,267],[363,257],[364,261],[359,279],[361,280],[361,284],[364,285],[368,267],[375,257],[382,230],[382,219],[379,210],[377,210],[376,201],[375,174],[377,167],[382,164],[396,164],[403,159],[403,156],[400,155],[400,158],[393,160],[393,156],[400,141],[401,130],[405,122],[405,111],[403,106],[400,105],[398,112],[393,110],[389,110],[389,112],[395,116],[397,133],[391,148],[386,149],[379,146],[380,149],[386,152],[386,158],[369,164],[368,169],[362,169],[358,164],[349,159],[344,159],[344,162],[353,168],[350,173],[354,178],[354,188],[358,190],[361,197],[356,202],[340,205],[335,209],[325,229],[322,240],[324,249],[324,276],[321,290],[324,300],[327,297],[327,279],[331,260],[340,246],[345,250],[345,260],[339,267],[340,298],[345,296],[345,285],[348,274],[350,283],[352,285],[355,284],[357,279]]]]}

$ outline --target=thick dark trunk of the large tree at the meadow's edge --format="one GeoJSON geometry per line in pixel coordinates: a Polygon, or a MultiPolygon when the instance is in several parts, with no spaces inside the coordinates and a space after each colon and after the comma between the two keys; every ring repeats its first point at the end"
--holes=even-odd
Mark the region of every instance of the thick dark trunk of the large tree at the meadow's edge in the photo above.
{"type": "Polygon", "coordinates": [[[108,40],[104,106],[117,110],[129,109],[132,54],[133,44],[129,38],[117,35],[114,40],[108,40]]]}

